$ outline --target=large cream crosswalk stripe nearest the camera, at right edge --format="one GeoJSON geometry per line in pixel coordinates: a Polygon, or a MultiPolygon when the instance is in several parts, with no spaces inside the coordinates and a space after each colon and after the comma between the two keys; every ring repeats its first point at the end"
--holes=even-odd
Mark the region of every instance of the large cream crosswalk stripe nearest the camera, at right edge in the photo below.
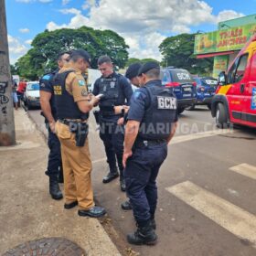
{"type": "Polygon", "coordinates": [[[256,244],[256,217],[190,181],[165,188],[242,240],[256,244]]]}

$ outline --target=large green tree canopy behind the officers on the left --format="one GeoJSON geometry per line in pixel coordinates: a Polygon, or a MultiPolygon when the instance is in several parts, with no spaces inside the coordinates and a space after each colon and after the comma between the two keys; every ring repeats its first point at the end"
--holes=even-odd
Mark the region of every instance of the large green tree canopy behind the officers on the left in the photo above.
{"type": "Polygon", "coordinates": [[[123,68],[129,48],[123,37],[112,30],[91,27],[45,30],[34,38],[31,46],[27,54],[16,62],[18,74],[28,79],[35,79],[48,70],[56,69],[59,52],[74,48],[83,48],[91,54],[91,67],[94,69],[97,68],[97,59],[105,54],[112,58],[116,66],[123,68]]]}

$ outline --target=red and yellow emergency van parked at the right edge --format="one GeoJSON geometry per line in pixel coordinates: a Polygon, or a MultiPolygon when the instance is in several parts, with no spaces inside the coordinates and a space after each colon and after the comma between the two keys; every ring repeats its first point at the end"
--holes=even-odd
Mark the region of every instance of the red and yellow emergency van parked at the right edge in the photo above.
{"type": "Polygon", "coordinates": [[[240,50],[227,75],[220,72],[211,114],[220,128],[230,123],[256,128],[256,34],[240,50]]]}

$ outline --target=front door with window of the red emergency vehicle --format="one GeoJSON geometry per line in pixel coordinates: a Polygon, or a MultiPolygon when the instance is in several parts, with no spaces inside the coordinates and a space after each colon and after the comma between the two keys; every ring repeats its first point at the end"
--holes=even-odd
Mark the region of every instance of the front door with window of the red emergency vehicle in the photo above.
{"type": "Polygon", "coordinates": [[[233,123],[244,123],[244,98],[245,87],[250,74],[248,53],[241,55],[228,74],[228,84],[231,84],[231,88],[227,94],[229,101],[229,116],[230,121],[233,123]]]}

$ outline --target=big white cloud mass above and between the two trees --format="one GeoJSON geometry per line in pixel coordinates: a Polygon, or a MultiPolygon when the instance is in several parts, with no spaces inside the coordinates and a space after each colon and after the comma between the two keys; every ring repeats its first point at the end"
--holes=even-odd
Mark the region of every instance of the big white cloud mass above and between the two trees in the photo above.
{"type": "Polygon", "coordinates": [[[216,24],[220,20],[242,16],[233,10],[212,14],[212,7],[197,0],[95,0],[84,1],[82,9],[88,16],[75,8],[60,10],[63,14],[74,15],[68,24],[49,22],[47,28],[77,28],[88,26],[112,29],[125,38],[130,46],[131,57],[160,59],[159,44],[172,35],[191,32],[191,27],[201,24],[216,24]]]}

